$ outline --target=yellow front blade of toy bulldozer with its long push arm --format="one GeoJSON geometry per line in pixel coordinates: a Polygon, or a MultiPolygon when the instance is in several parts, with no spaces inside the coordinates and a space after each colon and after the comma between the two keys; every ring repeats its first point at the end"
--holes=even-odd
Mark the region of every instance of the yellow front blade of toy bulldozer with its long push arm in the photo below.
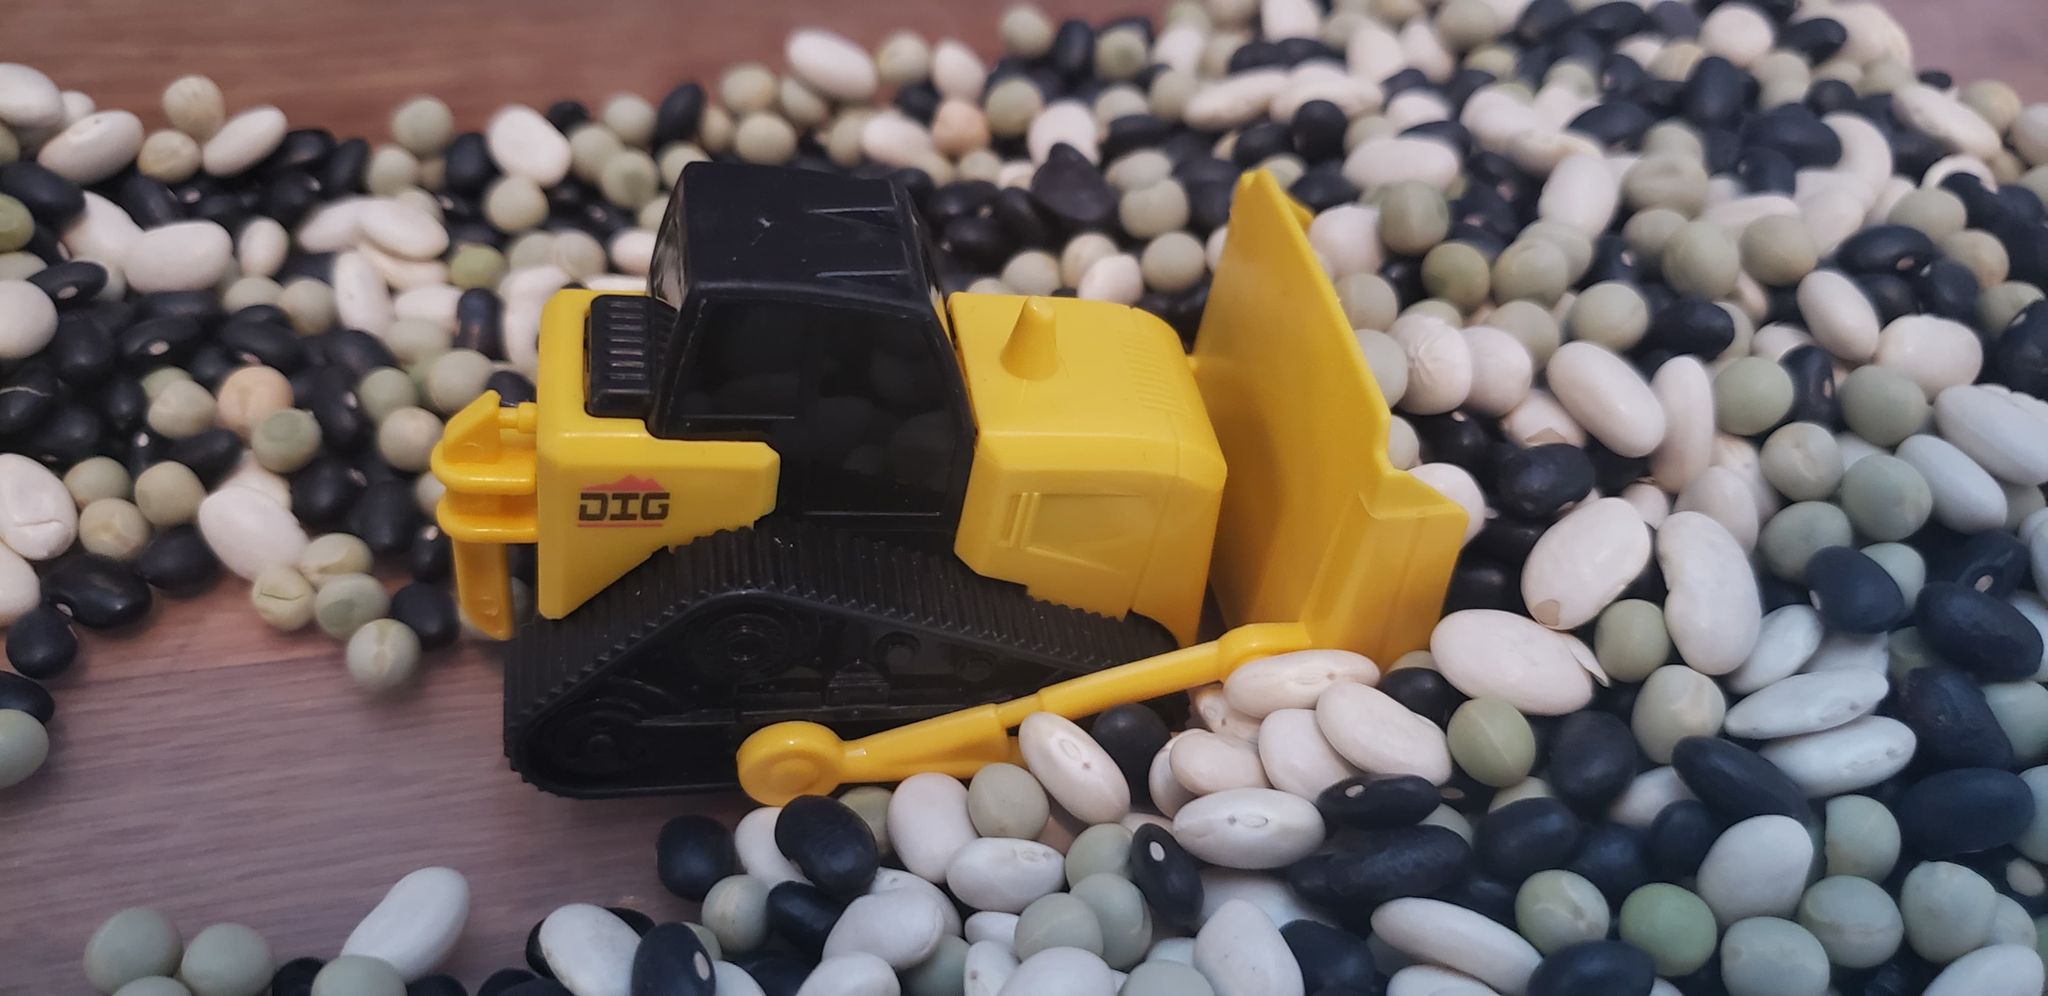
{"type": "Polygon", "coordinates": [[[817,723],[764,728],[739,748],[748,795],[780,805],[848,781],[965,777],[1010,760],[1010,728],[1034,711],[1077,719],[1290,650],[1391,662],[1427,641],[1464,510],[1386,459],[1386,400],[1305,223],[1270,174],[1239,180],[1194,348],[1194,379],[1231,465],[1208,582],[1237,629],[850,744],[817,723]]]}

